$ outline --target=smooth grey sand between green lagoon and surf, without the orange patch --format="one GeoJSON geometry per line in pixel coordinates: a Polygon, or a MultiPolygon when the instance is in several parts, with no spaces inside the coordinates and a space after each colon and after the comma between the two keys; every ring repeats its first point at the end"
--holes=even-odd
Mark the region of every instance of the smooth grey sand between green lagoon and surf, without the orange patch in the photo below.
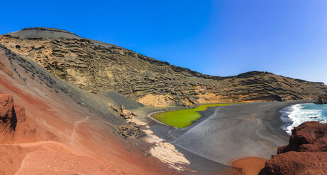
{"type": "Polygon", "coordinates": [[[279,111],[298,103],[303,102],[255,102],[219,107],[172,143],[227,166],[231,166],[231,160],[245,157],[269,159],[289,140],[281,128],[284,122],[279,111]]]}

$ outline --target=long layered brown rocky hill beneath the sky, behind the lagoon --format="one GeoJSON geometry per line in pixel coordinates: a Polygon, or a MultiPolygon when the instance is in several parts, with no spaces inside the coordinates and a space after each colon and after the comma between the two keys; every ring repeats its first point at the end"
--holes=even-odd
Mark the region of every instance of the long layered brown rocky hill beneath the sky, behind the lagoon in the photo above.
{"type": "Polygon", "coordinates": [[[253,71],[208,76],[113,44],[99,44],[65,30],[26,28],[0,36],[0,44],[88,92],[115,91],[147,105],[286,101],[327,92],[313,83],[253,71]]]}

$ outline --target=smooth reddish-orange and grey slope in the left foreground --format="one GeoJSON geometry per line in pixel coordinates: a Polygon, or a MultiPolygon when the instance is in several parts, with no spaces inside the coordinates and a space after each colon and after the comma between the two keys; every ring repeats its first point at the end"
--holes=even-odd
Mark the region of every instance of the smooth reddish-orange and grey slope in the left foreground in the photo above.
{"type": "Polygon", "coordinates": [[[0,174],[174,174],[144,156],[151,145],[113,133],[127,121],[109,103],[142,107],[89,94],[0,46],[0,174]]]}

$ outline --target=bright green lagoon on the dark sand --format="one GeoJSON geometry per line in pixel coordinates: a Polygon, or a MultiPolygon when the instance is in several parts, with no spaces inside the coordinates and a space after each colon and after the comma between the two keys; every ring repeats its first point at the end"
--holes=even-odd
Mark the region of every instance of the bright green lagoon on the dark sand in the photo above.
{"type": "Polygon", "coordinates": [[[192,109],[182,109],[177,111],[165,111],[153,114],[153,119],[176,128],[185,128],[190,126],[193,121],[201,117],[198,111],[205,111],[208,107],[226,106],[229,104],[204,104],[192,109]]]}

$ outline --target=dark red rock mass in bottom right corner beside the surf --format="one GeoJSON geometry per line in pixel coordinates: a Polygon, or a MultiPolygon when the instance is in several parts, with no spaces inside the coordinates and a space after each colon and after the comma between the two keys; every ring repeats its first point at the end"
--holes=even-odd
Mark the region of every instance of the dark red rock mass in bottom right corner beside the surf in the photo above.
{"type": "Polygon", "coordinates": [[[292,130],[289,145],[279,147],[260,175],[327,174],[327,123],[308,121],[292,130]]]}

